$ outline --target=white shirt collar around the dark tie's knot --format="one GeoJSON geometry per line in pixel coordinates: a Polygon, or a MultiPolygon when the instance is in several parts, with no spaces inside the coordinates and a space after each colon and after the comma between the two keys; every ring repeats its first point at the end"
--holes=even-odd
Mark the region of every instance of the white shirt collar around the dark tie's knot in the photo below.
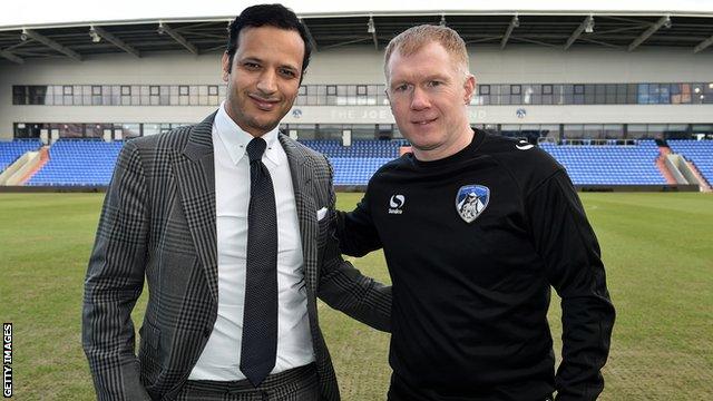
{"type": "MultiPolygon", "coordinates": [[[[231,155],[231,160],[233,160],[233,164],[237,165],[243,156],[245,156],[245,147],[253,139],[253,136],[243,130],[243,128],[235,124],[231,116],[227,115],[227,111],[225,111],[225,100],[221,102],[218,113],[215,115],[214,125],[218,138],[221,138],[221,141],[227,149],[228,155],[231,155]]],[[[277,134],[279,127],[275,127],[273,130],[262,135],[262,138],[267,143],[265,156],[276,166],[280,165],[281,160],[275,151],[275,146],[280,144],[277,141],[277,134]]]]}

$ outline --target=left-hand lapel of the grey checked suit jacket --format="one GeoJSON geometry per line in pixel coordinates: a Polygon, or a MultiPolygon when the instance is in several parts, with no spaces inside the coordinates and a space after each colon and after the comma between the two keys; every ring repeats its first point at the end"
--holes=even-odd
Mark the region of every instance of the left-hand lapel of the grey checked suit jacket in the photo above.
{"type": "Polygon", "coordinates": [[[215,113],[188,135],[183,155],[174,163],[180,202],[214,301],[218,299],[217,241],[215,228],[215,166],[213,120],[215,113]]]}

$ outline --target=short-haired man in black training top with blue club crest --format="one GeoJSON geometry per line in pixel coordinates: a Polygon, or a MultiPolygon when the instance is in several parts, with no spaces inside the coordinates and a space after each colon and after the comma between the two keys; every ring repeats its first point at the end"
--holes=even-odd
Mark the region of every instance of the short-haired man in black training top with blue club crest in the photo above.
{"type": "Polygon", "coordinates": [[[595,400],[614,307],[597,239],[551,157],[470,128],[466,46],[413,27],[388,46],[391,110],[413,153],[340,215],[342,252],[383,247],[393,282],[389,400],[595,400]],[[547,324],[561,296],[563,362],[547,324]]]}

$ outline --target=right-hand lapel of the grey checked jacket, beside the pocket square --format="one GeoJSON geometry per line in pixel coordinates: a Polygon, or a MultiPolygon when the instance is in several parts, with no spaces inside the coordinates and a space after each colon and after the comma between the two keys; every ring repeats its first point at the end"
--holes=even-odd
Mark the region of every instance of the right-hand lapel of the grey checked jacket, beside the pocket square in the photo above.
{"type": "Polygon", "coordinates": [[[314,293],[318,277],[318,235],[316,206],[312,197],[312,172],[307,155],[287,136],[279,136],[282,147],[287,155],[294,200],[300,222],[302,238],[302,255],[304,258],[304,281],[307,288],[314,293]]]}

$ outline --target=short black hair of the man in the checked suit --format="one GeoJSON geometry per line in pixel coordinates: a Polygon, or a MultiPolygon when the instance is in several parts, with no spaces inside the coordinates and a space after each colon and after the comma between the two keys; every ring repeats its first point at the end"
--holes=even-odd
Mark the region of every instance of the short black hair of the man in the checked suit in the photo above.
{"type": "Polygon", "coordinates": [[[237,50],[237,40],[240,39],[241,30],[247,27],[262,27],[270,26],[285,30],[294,30],[300,33],[302,41],[304,42],[304,57],[302,58],[302,75],[300,81],[304,77],[304,71],[310,63],[310,55],[312,53],[312,45],[310,43],[310,37],[306,28],[302,25],[297,16],[285,8],[282,4],[258,4],[248,7],[240,16],[235,18],[228,27],[228,39],[225,52],[228,56],[229,69],[233,68],[233,57],[237,50]]]}

